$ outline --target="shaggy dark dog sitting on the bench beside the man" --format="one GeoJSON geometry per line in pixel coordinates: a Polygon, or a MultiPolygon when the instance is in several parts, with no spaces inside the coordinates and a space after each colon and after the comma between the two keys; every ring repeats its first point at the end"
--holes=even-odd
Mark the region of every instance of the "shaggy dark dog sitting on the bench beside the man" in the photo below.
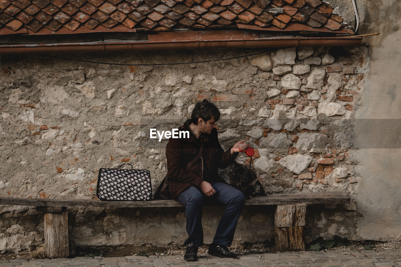
{"type": "Polygon", "coordinates": [[[231,173],[229,175],[229,184],[244,193],[245,198],[253,196],[265,196],[266,193],[256,173],[245,165],[234,162],[230,166],[231,173]]]}

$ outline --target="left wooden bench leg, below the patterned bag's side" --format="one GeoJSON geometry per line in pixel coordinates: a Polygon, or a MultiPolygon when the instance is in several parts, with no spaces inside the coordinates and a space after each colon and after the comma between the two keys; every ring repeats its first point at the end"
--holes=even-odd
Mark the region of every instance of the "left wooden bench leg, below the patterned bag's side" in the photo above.
{"type": "Polygon", "coordinates": [[[38,210],[43,211],[46,256],[68,257],[68,214],[65,207],[41,207],[38,210]]]}

